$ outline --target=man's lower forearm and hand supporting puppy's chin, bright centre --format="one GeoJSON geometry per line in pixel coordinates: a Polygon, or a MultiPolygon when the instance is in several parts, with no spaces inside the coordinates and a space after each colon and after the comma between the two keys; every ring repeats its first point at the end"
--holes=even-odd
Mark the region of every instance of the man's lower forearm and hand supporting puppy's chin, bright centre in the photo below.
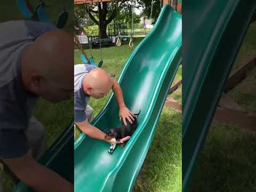
{"type": "Polygon", "coordinates": [[[129,136],[121,139],[120,141],[116,141],[115,138],[106,139],[106,133],[103,133],[101,130],[99,130],[97,127],[94,127],[91,125],[87,120],[81,123],[75,122],[75,124],[81,129],[85,134],[87,134],[89,137],[94,139],[100,139],[103,141],[107,141],[110,143],[123,143],[124,141],[130,139],[129,136]]]}

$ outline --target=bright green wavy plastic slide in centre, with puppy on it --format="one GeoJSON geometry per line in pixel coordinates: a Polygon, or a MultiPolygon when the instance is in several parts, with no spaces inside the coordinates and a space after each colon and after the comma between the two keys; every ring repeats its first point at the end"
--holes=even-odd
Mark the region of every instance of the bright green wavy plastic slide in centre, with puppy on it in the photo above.
{"type": "MultiPolygon", "coordinates": [[[[124,148],[81,134],[75,142],[75,191],[132,191],[153,140],[159,116],[181,61],[181,15],[165,5],[150,34],[132,52],[118,79],[126,106],[138,117],[124,148]]],[[[119,127],[112,94],[92,124],[106,132],[119,127]]]]}

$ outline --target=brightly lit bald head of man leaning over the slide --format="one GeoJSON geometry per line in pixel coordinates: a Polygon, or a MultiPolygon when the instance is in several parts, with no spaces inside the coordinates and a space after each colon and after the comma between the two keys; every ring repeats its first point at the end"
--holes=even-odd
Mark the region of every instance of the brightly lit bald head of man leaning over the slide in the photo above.
{"type": "Polygon", "coordinates": [[[92,69],[83,79],[83,89],[94,98],[104,97],[112,87],[111,77],[101,68],[92,69]]]}

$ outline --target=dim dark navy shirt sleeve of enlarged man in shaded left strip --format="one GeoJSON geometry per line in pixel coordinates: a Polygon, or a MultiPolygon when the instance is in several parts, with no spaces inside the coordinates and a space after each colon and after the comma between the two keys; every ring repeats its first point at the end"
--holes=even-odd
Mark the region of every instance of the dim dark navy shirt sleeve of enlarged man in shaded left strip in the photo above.
{"type": "Polygon", "coordinates": [[[29,150],[25,135],[28,125],[26,98],[17,79],[0,87],[0,92],[0,157],[20,157],[29,150]]]}

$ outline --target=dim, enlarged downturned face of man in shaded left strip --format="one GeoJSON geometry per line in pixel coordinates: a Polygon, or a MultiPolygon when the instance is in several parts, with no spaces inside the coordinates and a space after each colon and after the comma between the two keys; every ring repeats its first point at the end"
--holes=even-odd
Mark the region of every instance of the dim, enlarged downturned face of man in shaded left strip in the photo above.
{"type": "Polygon", "coordinates": [[[47,81],[47,79],[42,78],[38,95],[53,103],[68,100],[74,95],[74,85],[61,85],[61,82],[57,84],[57,82],[47,81]]]}

